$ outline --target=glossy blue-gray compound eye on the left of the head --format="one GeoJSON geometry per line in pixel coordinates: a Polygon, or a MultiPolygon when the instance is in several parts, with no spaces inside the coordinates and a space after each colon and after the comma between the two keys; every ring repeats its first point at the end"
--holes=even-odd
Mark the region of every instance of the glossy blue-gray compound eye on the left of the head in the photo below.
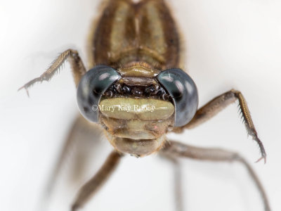
{"type": "Polygon", "coordinates": [[[87,120],[98,122],[100,97],[120,77],[115,69],[98,65],[81,78],[77,88],[77,103],[81,114],[87,120]]]}

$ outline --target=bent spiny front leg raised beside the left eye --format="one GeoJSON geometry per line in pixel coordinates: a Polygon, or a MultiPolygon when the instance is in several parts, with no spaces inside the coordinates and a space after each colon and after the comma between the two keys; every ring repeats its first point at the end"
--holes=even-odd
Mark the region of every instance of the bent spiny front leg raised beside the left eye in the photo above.
{"type": "MultiPolygon", "coordinates": [[[[74,82],[77,87],[81,77],[85,74],[86,69],[84,67],[81,58],[79,57],[78,52],[73,49],[68,49],[63,53],[61,53],[60,56],[58,56],[58,58],[56,58],[53,61],[50,68],[48,68],[48,70],[46,70],[39,77],[32,79],[30,82],[20,87],[20,89],[24,88],[27,91],[27,89],[29,89],[33,84],[37,82],[49,81],[53,77],[53,75],[55,75],[55,73],[58,72],[58,70],[60,70],[61,66],[67,59],[70,61],[74,82]]],[[[28,91],[27,91],[27,95],[28,95],[28,91]]]]}

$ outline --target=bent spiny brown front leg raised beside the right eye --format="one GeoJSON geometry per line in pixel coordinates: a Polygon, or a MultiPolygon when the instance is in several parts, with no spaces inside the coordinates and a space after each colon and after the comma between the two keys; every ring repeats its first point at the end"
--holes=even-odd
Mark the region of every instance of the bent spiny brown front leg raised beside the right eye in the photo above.
{"type": "MultiPolygon", "coordinates": [[[[251,115],[246,100],[242,93],[235,89],[231,89],[230,91],[227,91],[226,93],[221,94],[220,96],[217,96],[216,98],[209,101],[209,103],[197,110],[195,116],[190,122],[188,122],[188,124],[185,124],[183,127],[175,128],[174,132],[182,132],[183,129],[192,129],[194,127],[197,127],[198,125],[211,119],[211,117],[214,117],[214,115],[223,110],[223,108],[226,108],[226,106],[234,103],[236,100],[239,101],[240,111],[242,113],[243,122],[246,126],[248,134],[254,139],[254,141],[256,141],[256,143],[259,144],[259,148],[261,151],[261,158],[259,158],[259,160],[264,159],[264,162],[266,163],[266,151],[263,148],[263,143],[258,137],[253,120],[251,120],[251,115]]],[[[259,160],[257,160],[256,162],[259,162],[259,160]]]]}

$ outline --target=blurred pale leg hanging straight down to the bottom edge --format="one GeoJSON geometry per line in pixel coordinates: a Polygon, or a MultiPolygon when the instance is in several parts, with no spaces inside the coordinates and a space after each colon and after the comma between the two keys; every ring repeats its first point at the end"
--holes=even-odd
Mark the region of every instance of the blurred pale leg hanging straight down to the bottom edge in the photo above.
{"type": "Polygon", "coordinates": [[[171,161],[174,170],[174,200],[176,203],[176,210],[183,211],[183,190],[182,186],[182,171],[181,171],[181,164],[178,162],[178,158],[174,155],[167,154],[167,153],[159,153],[163,158],[171,161]]]}

